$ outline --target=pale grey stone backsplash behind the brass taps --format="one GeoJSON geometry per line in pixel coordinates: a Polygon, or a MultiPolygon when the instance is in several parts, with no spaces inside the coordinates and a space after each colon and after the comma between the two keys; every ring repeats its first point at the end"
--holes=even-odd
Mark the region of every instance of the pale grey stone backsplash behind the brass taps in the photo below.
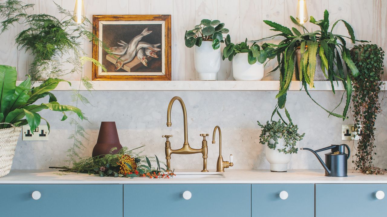
{"type": "MultiPolygon", "coordinates": [[[[54,92],[58,102],[74,105],[71,102],[72,92],[54,92]]],[[[172,91],[94,91],[82,92],[92,105],[78,104],[89,121],[83,121],[82,126],[89,135],[82,139],[85,146],[79,150],[80,156],[91,156],[92,148],[96,144],[101,121],[115,121],[122,146],[130,148],[145,146],[143,154],[156,154],[165,160],[165,139],[162,135],[172,134],[170,139],[173,149],[182,147],[184,142],[183,114],[180,103],[176,101],[172,107],[172,127],[166,126],[168,103],[174,96],[180,96],[187,108],[188,141],[190,146],[200,148],[201,133],[210,134],[207,137],[209,146],[207,168],[215,169],[219,154],[219,135],[216,132],[216,144],[212,144],[212,132],[216,125],[221,127],[223,158],[228,160],[229,154],[234,156],[234,166],[229,169],[268,169],[269,163],[265,159],[264,146],[259,143],[260,127],[257,120],[266,122],[270,119],[276,100],[277,92],[172,92],[172,91]]],[[[311,95],[327,109],[333,109],[339,103],[342,92],[334,95],[332,92],[311,92],[311,95]]],[[[356,145],[353,141],[341,140],[341,125],[352,124],[351,119],[342,121],[336,117],[328,117],[319,106],[313,103],[305,92],[289,92],[287,100],[293,122],[298,124],[299,132],[305,132],[305,137],[298,147],[319,149],[330,144],[356,145]]],[[[344,105],[342,105],[344,106],[344,105]]],[[[375,165],[387,168],[387,119],[382,103],[382,114],[378,115],[376,141],[377,146],[375,165]]],[[[342,107],[336,109],[342,111],[342,107]]],[[[74,126],[68,120],[60,121],[60,112],[42,111],[51,125],[48,141],[22,141],[20,137],[12,169],[47,169],[49,166],[68,165],[64,161],[69,159],[66,151],[72,147],[73,141],[68,139],[74,133],[74,126]]],[[[275,115],[275,119],[278,117],[275,115]]],[[[323,156],[323,153],[321,153],[323,156]]],[[[173,154],[171,167],[175,169],[202,168],[202,155],[173,154]]],[[[353,164],[349,160],[349,168],[353,164]]],[[[320,169],[322,168],[312,153],[298,151],[293,154],[289,163],[290,169],[320,169]]]]}

